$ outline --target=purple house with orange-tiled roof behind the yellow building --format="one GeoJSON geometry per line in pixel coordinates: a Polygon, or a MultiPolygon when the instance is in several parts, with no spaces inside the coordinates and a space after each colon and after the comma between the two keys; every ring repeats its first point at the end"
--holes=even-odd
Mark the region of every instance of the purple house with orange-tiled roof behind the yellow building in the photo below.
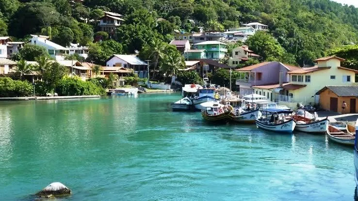
{"type": "Polygon", "coordinates": [[[300,69],[277,61],[262,62],[252,66],[236,69],[240,73],[240,78],[236,80],[236,85],[240,88],[240,95],[254,93],[251,86],[261,86],[279,83],[279,75],[282,73],[282,82],[289,82],[288,72],[300,69]]]}

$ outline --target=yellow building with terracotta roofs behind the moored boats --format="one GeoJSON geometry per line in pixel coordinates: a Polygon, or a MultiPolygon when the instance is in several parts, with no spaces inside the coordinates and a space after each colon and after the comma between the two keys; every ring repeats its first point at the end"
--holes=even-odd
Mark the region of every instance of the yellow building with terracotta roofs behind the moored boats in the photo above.
{"type": "Polygon", "coordinates": [[[253,86],[255,93],[270,93],[273,101],[296,108],[297,103],[319,102],[316,93],[325,86],[352,86],[358,71],[341,67],[340,57],[323,57],[315,60],[316,66],[288,72],[289,83],[271,86],[253,86]],[[272,93],[272,94],[271,94],[272,93]]]}

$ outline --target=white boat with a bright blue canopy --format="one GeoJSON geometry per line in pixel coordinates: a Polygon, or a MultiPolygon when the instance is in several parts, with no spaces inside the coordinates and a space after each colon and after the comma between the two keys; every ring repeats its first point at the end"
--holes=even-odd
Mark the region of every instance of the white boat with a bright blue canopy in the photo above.
{"type": "Polygon", "coordinates": [[[276,108],[269,108],[266,110],[267,113],[271,114],[268,118],[261,116],[260,119],[256,119],[256,126],[260,129],[271,130],[280,133],[292,133],[296,123],[291,116],[293,111],[282,110],[276,108]]]}

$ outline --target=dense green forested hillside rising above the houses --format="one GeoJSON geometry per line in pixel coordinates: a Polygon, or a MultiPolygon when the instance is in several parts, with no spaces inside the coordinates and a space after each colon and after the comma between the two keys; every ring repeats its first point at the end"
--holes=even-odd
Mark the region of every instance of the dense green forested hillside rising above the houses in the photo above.
{"type": "Polygon", "coordinates": [[[90,44],[102,11],[127,16],[118,30],[121,48],[113,50],[116,53],[140,51],[153,37],[168,41],[178,28],[191,31],[221,24],[229,29],[253,21],[269,26],[285,50],[282,61],[300,65],[358,41],[358,9],[329,0],[85,0],[83,5],[69,0],[0,0],[0,36],[23,40],[42,33],[63,45],[90,44]],[[168,21],[157,25],[154,20],[159,17],[168,21]]]}

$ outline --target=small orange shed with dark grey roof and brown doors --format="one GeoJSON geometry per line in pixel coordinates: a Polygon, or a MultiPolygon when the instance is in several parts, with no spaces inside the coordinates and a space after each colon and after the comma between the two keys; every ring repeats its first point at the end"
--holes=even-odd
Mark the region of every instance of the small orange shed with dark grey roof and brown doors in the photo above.
{"type": "Polygon", "coordinates": [[[358,113],[358,86],[325,86],[319,90],[322,109],[343,113],[342,103],[347,104],[344,113],[358,113]]]}

